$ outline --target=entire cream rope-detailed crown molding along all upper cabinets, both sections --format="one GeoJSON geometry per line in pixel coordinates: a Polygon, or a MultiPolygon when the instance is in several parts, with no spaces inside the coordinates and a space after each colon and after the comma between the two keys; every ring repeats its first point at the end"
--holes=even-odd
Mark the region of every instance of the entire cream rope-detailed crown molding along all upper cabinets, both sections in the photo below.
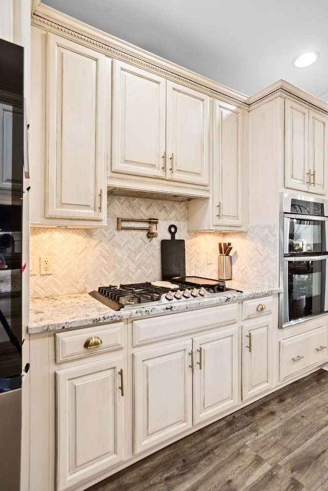
{"type": "Polygon", "coordinates": [[[42,4],[42,0],[31,0],[31,24],[78,41],[85,46],[93,46],[97,51],[113,59],[126,61],[131,65],[160,74],[169,80],[177,81],[179,84],[192,87],[211,97],[247,110],[252,110],[270,98],[286,96],[328,115],[328,104],[324,100],[299,89],[284,79],[276,81],[249,97],[52,9],[42,4]]]}

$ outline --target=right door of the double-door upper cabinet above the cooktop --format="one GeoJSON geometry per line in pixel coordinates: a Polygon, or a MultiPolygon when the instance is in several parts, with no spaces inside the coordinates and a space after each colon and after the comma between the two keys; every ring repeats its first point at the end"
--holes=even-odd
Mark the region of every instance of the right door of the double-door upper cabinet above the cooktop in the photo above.
{"type": "Polygon", "coordinates": [[[167,178],[209,185],[209,97],[167,81],[167,178]]]}

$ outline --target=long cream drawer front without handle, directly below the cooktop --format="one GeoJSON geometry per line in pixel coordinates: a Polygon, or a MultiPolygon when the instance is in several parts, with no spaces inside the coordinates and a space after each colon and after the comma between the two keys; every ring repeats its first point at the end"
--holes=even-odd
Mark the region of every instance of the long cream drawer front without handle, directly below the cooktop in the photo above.
{"type": "Polygon", "coordinates": [[[231,324],[238,319],[238,304],[226,304],[192,312],[140,319],[132,322],[133,345],[168,339],[204,328],[231,324]]]}

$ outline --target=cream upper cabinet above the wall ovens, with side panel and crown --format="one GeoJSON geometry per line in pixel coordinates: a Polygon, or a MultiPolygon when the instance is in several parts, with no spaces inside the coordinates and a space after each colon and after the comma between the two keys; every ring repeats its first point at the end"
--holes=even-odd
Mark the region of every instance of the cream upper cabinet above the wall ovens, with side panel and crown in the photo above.
{"type": "Polygon", "coordinates": [[[327,124],[328,104],[285,80],[250,98],[250,223],[277,224],[281,192],[327,194],[327,124]]]}

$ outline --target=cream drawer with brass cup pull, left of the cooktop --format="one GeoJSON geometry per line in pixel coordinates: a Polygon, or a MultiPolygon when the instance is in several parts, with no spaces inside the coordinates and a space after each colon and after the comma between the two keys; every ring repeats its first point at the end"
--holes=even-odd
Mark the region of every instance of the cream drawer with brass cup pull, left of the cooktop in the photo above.
{"type": "Polygon", "coordinates": [[[117,350],[124,345],[124,322],[115,322],[55,335],[56,362],[117,350]],[[91,338],[95,337],[94,342],[91,338]],[[85,344],[89,341],[91,347],[85,344]]]}

